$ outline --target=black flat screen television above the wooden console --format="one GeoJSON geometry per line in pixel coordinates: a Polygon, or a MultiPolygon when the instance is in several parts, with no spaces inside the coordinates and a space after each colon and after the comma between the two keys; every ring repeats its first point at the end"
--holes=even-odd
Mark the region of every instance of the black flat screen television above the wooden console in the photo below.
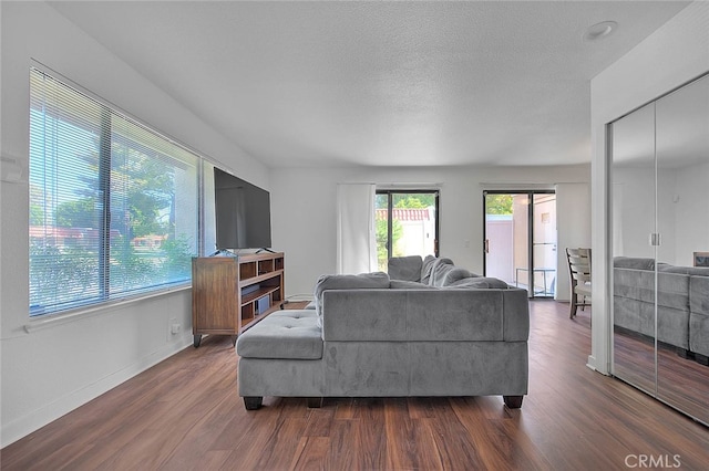
{"type": "Polygon", "coordinates": [[[217,251],[270,248],[270,193],[214,168],[217,251]]]}

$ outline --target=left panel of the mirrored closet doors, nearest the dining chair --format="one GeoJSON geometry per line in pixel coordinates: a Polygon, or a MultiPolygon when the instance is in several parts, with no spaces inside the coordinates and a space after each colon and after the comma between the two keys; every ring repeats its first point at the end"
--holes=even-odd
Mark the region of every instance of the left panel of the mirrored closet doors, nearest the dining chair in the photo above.
{"type": "Polygon", "coordinates": [[[655,362],[655,105],[613,124],[613,373],[650,394],[655,362]]]}

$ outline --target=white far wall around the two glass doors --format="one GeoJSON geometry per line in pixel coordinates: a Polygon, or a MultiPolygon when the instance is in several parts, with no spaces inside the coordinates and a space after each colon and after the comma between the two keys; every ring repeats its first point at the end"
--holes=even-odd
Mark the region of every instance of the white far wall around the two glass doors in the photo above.
{"type": "MultiPolygon", "coordinates": [[[[410,184],[441,184],[441,257],[482,273],[484,188],[554,188],[557,182],[588,181],[588,166],[276,169],[271,174],[271,221],[274,248],[286,252],[286,293],[311,294],[320,274],[335,273],[338,182],[374,182],[387,188],[392,184],[407,188],[411,188],[410,184]]],[[[563,213],[558,213],[558,224],[559,233],[567,231],[563,213]]]]}

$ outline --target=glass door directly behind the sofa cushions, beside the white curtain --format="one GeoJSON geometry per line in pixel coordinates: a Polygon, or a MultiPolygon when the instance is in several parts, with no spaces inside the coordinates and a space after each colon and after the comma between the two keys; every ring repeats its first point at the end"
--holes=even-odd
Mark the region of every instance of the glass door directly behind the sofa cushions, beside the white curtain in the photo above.
{"type": "Polygon", "coordinates": [[[439,193],[431,190],[377,190],[377,264],[387,271],[392,257],[438,257],[439,193]]]}

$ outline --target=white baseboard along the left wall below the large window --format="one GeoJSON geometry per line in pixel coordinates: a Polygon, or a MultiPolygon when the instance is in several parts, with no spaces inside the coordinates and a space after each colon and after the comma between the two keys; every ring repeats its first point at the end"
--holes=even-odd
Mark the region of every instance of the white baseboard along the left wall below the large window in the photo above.
{"type": "Polygon", "coordinates": [[[10,423],[2,422],[0,432],[0,448],[20,440],[45,425],[59,419],[72,410],[110,391],[122,383],[140,375],[146,369],[157,365],[176,353],[193,345],[192,335],[183,334],[175,342],[166,344],[161,349],[153,352],[141,360],[115,371],[99,381],[78,389],[69,395],[58,398],[55,401],[32,411],[10,423]]]}

